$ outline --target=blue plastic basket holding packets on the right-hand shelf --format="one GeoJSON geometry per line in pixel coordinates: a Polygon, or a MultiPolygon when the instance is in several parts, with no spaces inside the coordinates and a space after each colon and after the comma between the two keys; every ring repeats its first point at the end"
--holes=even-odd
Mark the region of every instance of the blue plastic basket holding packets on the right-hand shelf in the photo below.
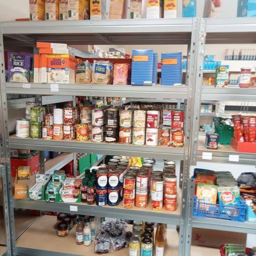
{"type": "Polygon", "coordinates": [[[202,202],[197,197],[194,198],[194,217],[212,217],[231,221],[245,222],[246,203],[240,197],[240,204],[237,206],[226,206],[202,202]]]}

